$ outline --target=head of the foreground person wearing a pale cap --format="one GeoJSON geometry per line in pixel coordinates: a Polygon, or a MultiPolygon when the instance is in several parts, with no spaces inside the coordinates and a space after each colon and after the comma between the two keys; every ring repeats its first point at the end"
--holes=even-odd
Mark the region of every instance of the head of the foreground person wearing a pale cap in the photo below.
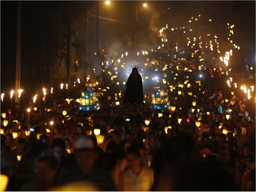
{"type": "Polygon", "coordinates": [[[77,163],[84,174],[93,171],[97,156],[95,152],[95,144],[90,137],[78,136],[74,145],[74,153],[77,163]]]}

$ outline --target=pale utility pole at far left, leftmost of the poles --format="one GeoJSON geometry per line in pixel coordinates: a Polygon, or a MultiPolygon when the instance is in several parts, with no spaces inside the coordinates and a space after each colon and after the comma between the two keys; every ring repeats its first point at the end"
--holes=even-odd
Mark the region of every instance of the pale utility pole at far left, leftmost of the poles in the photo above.
{"type": "Polygon", "coordinates": [[[18,2],[17,17],[17,46],[16,46],[16,77],[15,77],[15,102],[18,102],[18,90],[20,89],[20,29],[21,29],[21,2],[18,2]]]}

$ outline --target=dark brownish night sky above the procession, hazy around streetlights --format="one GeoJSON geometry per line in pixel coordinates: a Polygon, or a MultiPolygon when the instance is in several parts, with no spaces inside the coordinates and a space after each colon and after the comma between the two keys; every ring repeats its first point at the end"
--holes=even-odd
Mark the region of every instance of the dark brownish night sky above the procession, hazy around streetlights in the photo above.
{"type": "MultiPolygon", "coordinates": [[[[157,42],[155,29],[159,30],[166,23],[170,27],[188,26],[191,17],[201,14],[202,18],[212,20],[210,26],[202,21],[202,29],[218,34],[220,41],[225,41],[228,34],[227,23],[235,25],[233,41],[241,49],[230,61],[234,69],[239,70],[244,58],[255,62],[255,1],[145,2],[111,1],[106,5],[99,1],[99,16],[117,20],[99,19],[100,50],[105,49],[111,55],[114,52],[111,47],[124,49],[119,42],[134,34],[138,47],[153,49],[157,42]],[[148,4],[146,9],[142,6],[145,2],[148,4]]],[[[86,13],[93,9],[96,1],[22,1],[21,4],[21,87],[50,83],[44,78],[47,76],[46,65],[51,67],[53,60],[66,57],[63,49],[66,49],[68,11],[70,31],[76,37],[71,66],[75,58],[84,63],[86,13]]],[[[96,10],[91,13],[96,15],[96,10]]],[[[90,17],[89,22],[88,52],[93,55],[96,51],[96,18],[90,17]]],[[[17,1],[1,1],[1,92],[15,88],[16,29],[17,1]]],[[[176,41],[175,36],[169,39],[176,41]]],[[[224,43],[223,46],[225,49],[224,43]]],[[[50,74],[54,72],[49,71],[50,74]]]]}

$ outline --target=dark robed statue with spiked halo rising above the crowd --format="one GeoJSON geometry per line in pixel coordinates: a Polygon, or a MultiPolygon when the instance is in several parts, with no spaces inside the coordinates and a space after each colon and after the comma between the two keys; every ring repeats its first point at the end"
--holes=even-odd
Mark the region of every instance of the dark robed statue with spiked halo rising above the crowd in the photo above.
{"type": "Polygon", "coordinates": [[[142,78],[140,76],[140,67],[131,66],[131,74],[128,77],[125,89],[124,103],[143,103],[142,78]]]}

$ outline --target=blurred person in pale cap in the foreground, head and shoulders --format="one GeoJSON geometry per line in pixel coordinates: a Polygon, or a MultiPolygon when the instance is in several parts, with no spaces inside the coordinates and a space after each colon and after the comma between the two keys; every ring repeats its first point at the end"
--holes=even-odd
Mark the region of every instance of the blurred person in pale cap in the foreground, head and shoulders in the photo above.
{"type": "Polygon", "coordinates": [[[99,191],[116,191],[110,172],[96,166],[96,145],[90,137],[78,136],[74,143],[74,153],[70,154],[70,163],[61,170],[57,184],[64,185],[78,181],[89,181],[99,188],[99,191]]]}

